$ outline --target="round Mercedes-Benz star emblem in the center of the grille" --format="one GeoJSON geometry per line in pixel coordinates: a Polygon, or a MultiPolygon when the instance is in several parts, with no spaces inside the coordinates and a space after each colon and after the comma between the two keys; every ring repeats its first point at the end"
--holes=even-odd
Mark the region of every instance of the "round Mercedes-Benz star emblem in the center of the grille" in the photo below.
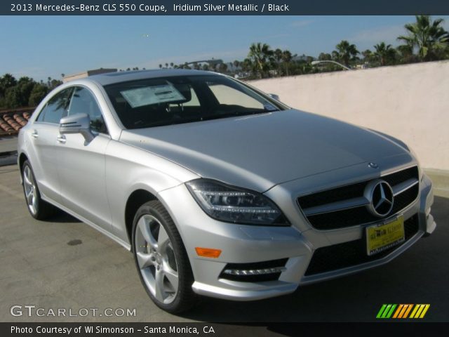
{"type": "Polygon", "coordinates": [[[368,211],[375,216],[387,216],[393,209],[394,194],[385,180],[373,180],[365,187],[364,195],[368,199],[368,211]]]}

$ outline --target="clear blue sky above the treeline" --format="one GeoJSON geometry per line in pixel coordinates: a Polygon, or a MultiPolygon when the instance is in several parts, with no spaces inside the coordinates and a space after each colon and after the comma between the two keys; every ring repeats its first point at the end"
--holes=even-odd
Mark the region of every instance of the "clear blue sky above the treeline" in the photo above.
{"type": "MultiPolygon", "coordinates": [[[[445,29],[449,29],[449,16],[445,29]]],[[[60,78],[98,67],[243,60],[253,42],[317,56],[347,39],[359,51],[396,37],[413,16],[0,17],[0,76],[60,78]],[[148,36],[147,36],[148,35],[148,36]]]]}

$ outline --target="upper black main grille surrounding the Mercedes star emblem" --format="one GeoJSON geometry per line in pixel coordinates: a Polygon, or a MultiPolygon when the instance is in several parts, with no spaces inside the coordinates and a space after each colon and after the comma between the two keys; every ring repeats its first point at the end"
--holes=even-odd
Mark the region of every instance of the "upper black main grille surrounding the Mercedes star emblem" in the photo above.
{"type": "MultiPolygon", "coordinates": [[[[405,169],[396,173],[391,173],[387,176],[382,176],[381,179],[385,180],[393,188],[408,180],[415,181],[415,185],[395,195],[393,209],[391,209],[389,214],[384,216],[384,218],[405,209],[408,205],[413,203],[418,196],[420,187],[417,183],[419,179],[417,166],[413,166],[410,169],[405,169]]],[[[366,185],[368,185],[370,181],[371,180],[366,180],[361,183],[355,183],[323,192],[309,194],[304,197],[299,197],[297,202],[303,211],[307,211],[307,209],[317,206],[333,204],[340,201],[344,202],[354,198],[361,198],[363,197],[363,192],[366,185]]],[[[382,220],[382,218],[374,216],[370,213],[366,206],[355,206],[349,209],[337,209],[327,211],[326,213],[316,213],[310,215],[307,215],[307,212],[304,213],[306,213],[309,223],[319,230],[334,230],[337,228],[363,225],[382,220]]]]}

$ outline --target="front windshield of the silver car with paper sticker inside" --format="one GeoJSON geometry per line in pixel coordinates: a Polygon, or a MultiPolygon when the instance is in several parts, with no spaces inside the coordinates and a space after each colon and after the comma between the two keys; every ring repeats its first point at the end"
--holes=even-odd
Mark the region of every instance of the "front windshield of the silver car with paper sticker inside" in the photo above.
{"type": "Polygon", "coordinates": [[[159,77],[105,86],[123,126],[148,128],[284,110],[220,75],[159,77]]]}

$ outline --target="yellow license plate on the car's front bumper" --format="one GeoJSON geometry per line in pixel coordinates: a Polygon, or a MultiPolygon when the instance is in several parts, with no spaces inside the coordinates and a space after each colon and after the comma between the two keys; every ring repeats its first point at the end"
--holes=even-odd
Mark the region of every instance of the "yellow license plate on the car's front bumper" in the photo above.
{"type": "Polygon", "coordinates": [[[369,256],[404,242],[404,217],[366,227],[366,250],[369,256]]]}

